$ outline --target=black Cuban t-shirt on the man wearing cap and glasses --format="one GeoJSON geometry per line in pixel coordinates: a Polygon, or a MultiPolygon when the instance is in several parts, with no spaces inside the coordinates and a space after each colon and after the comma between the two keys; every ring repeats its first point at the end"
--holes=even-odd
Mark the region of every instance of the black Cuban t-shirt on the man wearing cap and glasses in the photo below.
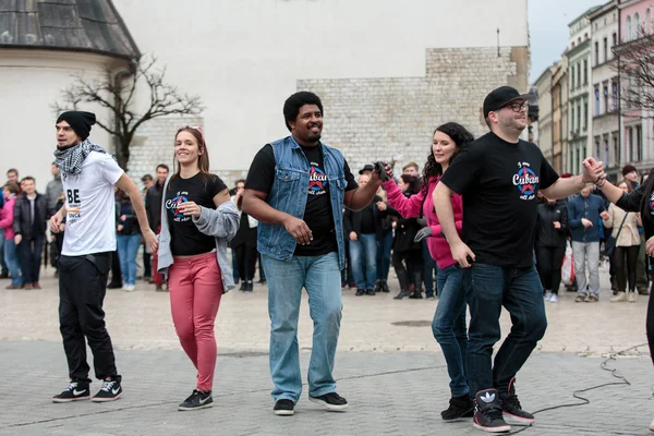
{"type": "Polygon", "coordinates": [[[481,264],[533,265],[538,190],[558,174],[541,149],[487,133],[463,149],[441,183],[463,196],[463,241],[481,264]]]}

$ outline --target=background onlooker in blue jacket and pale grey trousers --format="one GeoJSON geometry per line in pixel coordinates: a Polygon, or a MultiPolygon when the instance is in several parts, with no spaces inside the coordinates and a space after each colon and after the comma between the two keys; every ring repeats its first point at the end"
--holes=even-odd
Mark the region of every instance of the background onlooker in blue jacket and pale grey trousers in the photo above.
{"type": "Polygon", "coordinates": [[[574,302],[600,301],[600,217],[608,218],[600,195],[591,194],[592,185],[568,202],[568,223],[572,233],[572,256],[578,294],[574,302]],[[586,288],[585,267],[589,267],[590,290],[586,288]]]}

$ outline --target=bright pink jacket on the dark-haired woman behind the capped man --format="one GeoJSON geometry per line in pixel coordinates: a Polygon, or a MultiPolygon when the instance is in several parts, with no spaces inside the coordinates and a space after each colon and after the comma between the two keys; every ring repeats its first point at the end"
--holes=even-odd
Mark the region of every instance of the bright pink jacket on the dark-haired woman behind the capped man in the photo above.
{"type": "MultiPolygon", "coordinates": [[[[448,266],[455,265],[457,261],[453,259],[449,244],[440,234],[440,223],[434,209],[434,199],[432,194],[438,184],[439,178],[433,177],[429,179],[429,185],[426,190],[421,190],[420,193],[407,198],[402,191],[398,187],[395,180],[389,180],[384,183],[384,189],[388,194],[388,204],[390,207],[400,213],[403,218],[415,218],[420,216],[420,207],[423,207],[423,216],[427,220],[427,226],[432,228],[432,238],[427,238],[427,247],[429,254],[436,261],[438,268],[445,269],[448,266]]],[[[455,213],[455,225],[459,234],[463,227],[463,205],[461,202],[461,195],[452,195],[452,209],[455,213]]]]}

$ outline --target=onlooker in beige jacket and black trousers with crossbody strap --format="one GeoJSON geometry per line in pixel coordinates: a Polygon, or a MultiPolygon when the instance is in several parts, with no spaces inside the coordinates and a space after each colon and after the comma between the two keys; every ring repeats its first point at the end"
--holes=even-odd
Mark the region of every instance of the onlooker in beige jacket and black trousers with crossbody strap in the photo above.
{"type": "MultiPolygon", "coordinates": [[[[627,179],[622,180],[618,184],[618,187],[627,194],[633,192],[633,185],[627,179]]],[[[641,245],[638,229],[642,229],[640,214],[628,213],[615,204],[610,204],[608,206],[606,227],[613,228],[611,237],[616,240],[613,261],[617,271],[618,294],[613,296],[610,301],[629,301],[634,303],[635,295],[638,295],[635,289],[635,266],[641,245]],[[629,282],[629,288],[627,288],[627,281],[629,282]]]]}

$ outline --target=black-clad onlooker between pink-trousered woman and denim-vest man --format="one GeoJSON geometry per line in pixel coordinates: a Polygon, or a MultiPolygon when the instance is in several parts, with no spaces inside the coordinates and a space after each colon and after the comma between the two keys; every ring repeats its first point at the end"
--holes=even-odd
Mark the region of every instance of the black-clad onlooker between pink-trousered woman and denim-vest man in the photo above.
{"type": "Polygon", "coordinates": [[[254,289],[254,272],[256,268],[256,227],[257,220],[243,211],[243,191],[245,180],[237,181],[237,193],[232,202],[240,215],[239,231],[230,241],[230,247],[237,258],[239,277],[242,278],[240,291],[252,292],[254,289]]]}

